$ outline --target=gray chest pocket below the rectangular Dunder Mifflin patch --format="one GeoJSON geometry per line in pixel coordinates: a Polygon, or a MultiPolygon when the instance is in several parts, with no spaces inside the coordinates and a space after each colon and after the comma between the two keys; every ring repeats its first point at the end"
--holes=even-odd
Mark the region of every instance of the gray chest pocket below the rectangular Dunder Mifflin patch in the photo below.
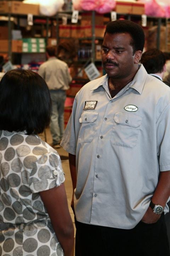
{"type": "Polygon", "coordinates": [[[79,131],[79,142],[91,142],[96,131],[98,113],[97,112],[83,112],[79,119],[81,124],[79,131]]]}

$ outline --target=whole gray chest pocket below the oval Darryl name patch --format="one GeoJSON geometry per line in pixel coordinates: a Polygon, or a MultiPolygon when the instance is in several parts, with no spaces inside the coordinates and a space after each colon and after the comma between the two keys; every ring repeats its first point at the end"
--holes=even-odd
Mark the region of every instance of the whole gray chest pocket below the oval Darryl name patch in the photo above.
{"type": "Polygon", "coordinates": [[[111,143],[128,148],[136,146],[142,119],[134,113],[115,113],[111,143]]]}

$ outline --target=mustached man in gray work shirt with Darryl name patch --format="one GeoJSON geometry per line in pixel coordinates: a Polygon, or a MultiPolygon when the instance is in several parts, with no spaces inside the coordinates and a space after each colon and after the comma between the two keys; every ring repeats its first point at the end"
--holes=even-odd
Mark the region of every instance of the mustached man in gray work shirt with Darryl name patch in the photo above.
{"type": "Polygon", "coordinates": [[[170,88],[139,64],[145,36],[109,22],[106,75],[75,97],[61,145],[69,153],[76,256],[169,256],[170,88]]]}

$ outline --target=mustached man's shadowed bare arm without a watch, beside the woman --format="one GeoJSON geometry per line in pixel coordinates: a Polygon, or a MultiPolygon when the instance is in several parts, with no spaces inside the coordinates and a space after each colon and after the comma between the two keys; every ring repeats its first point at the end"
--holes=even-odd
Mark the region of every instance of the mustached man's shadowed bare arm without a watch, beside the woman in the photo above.
{"type": "Polygon", "coordinates": [[[70,173],[72,177],[72,184],[73,184],[73,197],[72,197],[72,202],[71,202],[71,207],[74,212],[74,189],[76,188],[76,183],[77,183],[77,175],[76,175],[76,156],[72,154],[69,155],[69,166],[70,166],[70,173]]]}

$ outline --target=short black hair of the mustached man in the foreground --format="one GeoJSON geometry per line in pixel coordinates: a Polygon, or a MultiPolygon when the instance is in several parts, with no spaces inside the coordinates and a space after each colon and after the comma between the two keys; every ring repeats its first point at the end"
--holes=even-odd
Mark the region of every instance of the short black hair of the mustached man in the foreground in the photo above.
{"type": "Polygon", "coordinates": [[[145,34],[143,32],[143,29],[140,25],[133,21],[129,20],[116,20],[111,21],[106,26],[106,31],[104,33],[104,36],[106,33],[109,34],[118,34],[118,33],[128,33],[130,34],[132,40],[130,42],[130,45],[133,48],[133,54],[137,50],[141,50],[143,52],[143,47],[145,44],[145,34]]]}

